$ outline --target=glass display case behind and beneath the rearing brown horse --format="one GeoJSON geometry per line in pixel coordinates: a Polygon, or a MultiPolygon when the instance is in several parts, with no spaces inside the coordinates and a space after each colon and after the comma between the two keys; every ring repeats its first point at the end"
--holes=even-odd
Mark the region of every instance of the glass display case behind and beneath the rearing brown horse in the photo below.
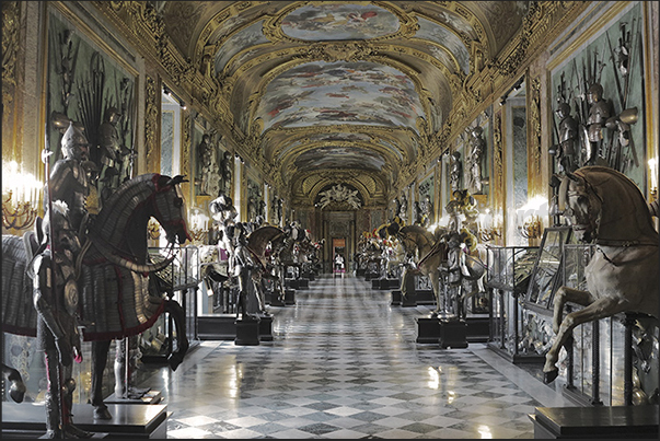
{"type": "MultiPolygon", "coordinates": [[[[560,285],[588,290],[586,267],[595,252],[592,244],[566,244],[560,285]]],[[[569,302],[566,312],[581,307],[569,302]]],[[[572,337],[572,346],[568,351],[561,349],[559,356],[559,375],[570,398],[605,406],[658,403],[657,322],[641,314],[615,314],[576,327],[572,337]],[[626,403],[625,396],[626,350],[630,359],[632,403],[626,403]]]]}

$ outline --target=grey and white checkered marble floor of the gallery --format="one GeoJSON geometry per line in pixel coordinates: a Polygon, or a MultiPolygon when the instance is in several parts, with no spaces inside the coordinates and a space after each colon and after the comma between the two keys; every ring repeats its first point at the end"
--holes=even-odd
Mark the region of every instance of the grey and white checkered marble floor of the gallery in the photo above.
{"type": "Polygon", "coordinates": [[[327,275],[270,307],[273,341],[201,341],[162,387],[169,438],[534,438],[528,414],[569,406],[485,344],[415,343],[429,307],[327,275]]]}

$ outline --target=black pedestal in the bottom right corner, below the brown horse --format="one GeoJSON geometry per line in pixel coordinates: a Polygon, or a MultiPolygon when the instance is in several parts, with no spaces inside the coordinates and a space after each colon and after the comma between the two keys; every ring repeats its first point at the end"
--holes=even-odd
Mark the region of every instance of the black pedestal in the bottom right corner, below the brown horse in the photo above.
{"type": "Polygon", "coordinates": [[[536,407],[535,439],[658,439],[658,405],[536,407]]]}

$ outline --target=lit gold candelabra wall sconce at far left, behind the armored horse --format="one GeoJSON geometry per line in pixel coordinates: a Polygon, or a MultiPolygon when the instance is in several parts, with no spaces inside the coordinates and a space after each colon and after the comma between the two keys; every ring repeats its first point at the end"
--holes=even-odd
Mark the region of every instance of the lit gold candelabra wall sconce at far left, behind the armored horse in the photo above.
{"type": "Polygon", "coordinates": [[[15,161],[3,164],[2,225],[13,230],[31,228],[38,213],[38,195],[42,189],[43,184],[34,175],[19,172],[15,161]]]}

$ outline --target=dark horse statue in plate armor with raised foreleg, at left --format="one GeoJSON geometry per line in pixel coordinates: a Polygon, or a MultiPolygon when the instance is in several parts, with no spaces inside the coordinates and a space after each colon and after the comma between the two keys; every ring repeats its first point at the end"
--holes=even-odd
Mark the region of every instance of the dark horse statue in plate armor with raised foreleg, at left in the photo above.
{"type": "MultiPolygon", "coordinates": [[[[111,419],[103,403],[103,370],[113,339],[138,335],[167,312],[176,326],[176,350],[169,358],[175,370],[188,349],[185,314],[166,299],[150,277],[170,265],[174,257],[154,264],[149,260],[148,222],[151,217],[163,227],[167,241],[189,240],[184,199],[178,187],[183,176],[144,174],[121,184],[104,202],[89,225],[77,260],[78,315],[84,325],[82,338],[92,341],[91,404],[94,417],[111,419]]],[[[2,330],[36,336],[37,313],[32,300],[32,279],[26,268],[36,254],[34,232],[23,237],[2,236],[2,330]]]]}

